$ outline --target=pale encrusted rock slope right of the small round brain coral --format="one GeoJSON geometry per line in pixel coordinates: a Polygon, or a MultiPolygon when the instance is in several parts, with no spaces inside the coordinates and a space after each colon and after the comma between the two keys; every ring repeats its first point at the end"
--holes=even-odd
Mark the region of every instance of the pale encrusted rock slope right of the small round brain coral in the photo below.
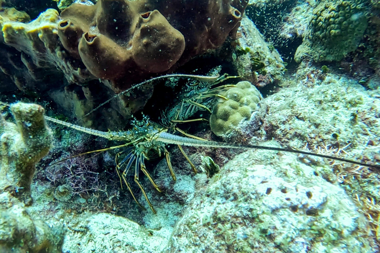
{"type": "Polygon", "coordinates": [[[263,103],[269,108],[263,119],[266,134],[293,147],[306,143],[312,147],[321,142],[335,146],[338,142],[339,147],[352,143],[350,147],[357,148],[360,143],[376,141],[380,134],[376,91],[366,92],[354,80],[323,73],[306,63],[297,71],[297,79],[290,82],[297,85],[283,88],[263,103]],[[289,101],[295,93],[297,101],[289,101]],[[363,131],[367,127],[370,129],[363,131]]]}

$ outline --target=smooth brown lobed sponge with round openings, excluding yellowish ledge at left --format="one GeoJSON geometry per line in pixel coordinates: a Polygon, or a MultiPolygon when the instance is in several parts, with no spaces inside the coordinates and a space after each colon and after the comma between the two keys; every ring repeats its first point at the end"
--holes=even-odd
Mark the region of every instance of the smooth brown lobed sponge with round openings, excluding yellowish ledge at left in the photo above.
{"type": "MultiPolygon", "coordinates": [[[[126,79],[174,70],[191,57],[217,48],[238,25],[246,0],[99,0],[62,11],[63,47],[114,90],[126,79]],[[234,7],[233,7],[234,6],[234,7]]],[[[128,83],[128,82],[127,82],[128,83]]]]}

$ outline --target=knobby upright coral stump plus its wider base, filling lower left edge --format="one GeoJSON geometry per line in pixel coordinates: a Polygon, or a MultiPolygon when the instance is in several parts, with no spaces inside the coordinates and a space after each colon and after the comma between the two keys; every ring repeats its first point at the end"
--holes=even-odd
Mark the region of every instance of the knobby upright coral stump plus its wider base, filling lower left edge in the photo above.
{"type": "Polygon", "coordinates": [[[32,203],[35,165],[51,145],[44,109],[17,103],[11,111],[16,124],[0,116],[0,252],[59,253],[61,230],[33,219],[25,209],[32,203]]]}

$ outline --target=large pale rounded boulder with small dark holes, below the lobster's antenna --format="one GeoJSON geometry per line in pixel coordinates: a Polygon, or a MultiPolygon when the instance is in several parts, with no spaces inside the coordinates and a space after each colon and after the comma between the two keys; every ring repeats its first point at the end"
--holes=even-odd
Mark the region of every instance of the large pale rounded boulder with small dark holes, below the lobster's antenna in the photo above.
{"type": "Polygon", "coordinates": [[[248,151],[195,196],[167,252],[371,253],[367,226],[343,189],[295,155],[248,151]]]}

